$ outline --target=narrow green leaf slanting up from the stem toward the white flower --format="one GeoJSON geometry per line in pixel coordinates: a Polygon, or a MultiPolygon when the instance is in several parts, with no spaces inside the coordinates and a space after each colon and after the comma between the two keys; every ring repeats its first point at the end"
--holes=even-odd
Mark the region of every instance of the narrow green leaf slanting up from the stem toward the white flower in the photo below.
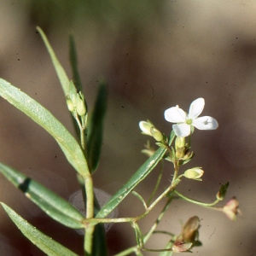
{"type": "Polygon", "coordinates": [[[143,166],[141,166],[137,172],[132,175],[129,181],[125,183],[125,185],[110,198],[108,203],[102,207],[100,212],[96,214],[96,218],[106,218],[108,214],[125,199],[125,196],[128,195],[138,183],[142,182],[143,179],[147,177],[148,174],[154,169],[154,167],[157,166],[164,154],[166,154],[166,150],[166,148],[158,148],[155,153],[144,162],[143,166]]]}

